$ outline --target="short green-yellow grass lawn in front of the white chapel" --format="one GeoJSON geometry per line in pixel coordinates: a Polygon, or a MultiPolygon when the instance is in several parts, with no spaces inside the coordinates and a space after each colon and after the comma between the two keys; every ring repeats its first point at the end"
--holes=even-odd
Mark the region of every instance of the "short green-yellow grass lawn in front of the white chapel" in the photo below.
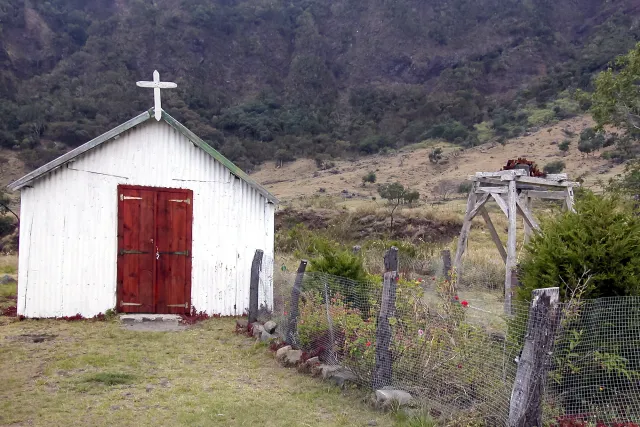
{"type": "Polygon", "coordinates": [[[0,424],[397,425],[364,403],[363,392],[282,368],[233,329],[232,319],[134,332],[118,321],[0,317],[0,424]]]}

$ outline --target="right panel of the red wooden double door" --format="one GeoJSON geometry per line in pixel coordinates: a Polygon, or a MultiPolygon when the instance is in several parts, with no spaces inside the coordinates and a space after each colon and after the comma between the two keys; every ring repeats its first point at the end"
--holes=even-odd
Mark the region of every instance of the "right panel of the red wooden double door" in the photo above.
{"type": "Polygon", "coordinates": [[[188,313],[191,290],[190,191],[159,191],[156,198],[156,311],[188,313]]]}

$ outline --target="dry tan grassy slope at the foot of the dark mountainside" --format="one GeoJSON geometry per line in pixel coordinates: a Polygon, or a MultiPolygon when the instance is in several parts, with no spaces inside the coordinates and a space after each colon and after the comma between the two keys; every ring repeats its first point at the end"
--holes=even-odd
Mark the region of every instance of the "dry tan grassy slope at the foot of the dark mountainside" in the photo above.
{"type": "MultiPolygon", "coordinates": [[[[339,196],[343,190],[369,198],[377,196],[375,185],[362,187],[362,176],[368,171],[376,173],[378,183],[399,181],[420,191],[423,198],[437,199],[438,195],[433,190],[443,180],[462,182],[475,172],[500,170],[508,159],[526,157],[540,168],[562,160],[570,178],[583,176],[585,185],[591,186],[598,179],[607,179],[622,171],[622,166],[610,168],[608,162],[599,157],[601,152],[587,158],[578,151],[580,132],[593,124],[589,116],[575,117],[509,140],[504,147],[485,144],[460,151],[452,144],[425,141],[404,147],[394,154],[336,161],[333,169],[324,171],[318,170],[310,159],[297,160],[282,168],[267,162],[252,177],[285,202],[319,194],[321,188],[325,190],[322,194],[330,196],[339,196]],[[575,136],[568,137],[563,129],[570,130],[575,136]],[[565,139],[572,141],[566,156],[557,146],[565,139]],[[434,147],[441,147],[444,153],[444,161],[438,165],[429,162],[429,153],[434,147]]],[[[349,200],[347,204],[357,206],[358,202],[349,200]]]]}

